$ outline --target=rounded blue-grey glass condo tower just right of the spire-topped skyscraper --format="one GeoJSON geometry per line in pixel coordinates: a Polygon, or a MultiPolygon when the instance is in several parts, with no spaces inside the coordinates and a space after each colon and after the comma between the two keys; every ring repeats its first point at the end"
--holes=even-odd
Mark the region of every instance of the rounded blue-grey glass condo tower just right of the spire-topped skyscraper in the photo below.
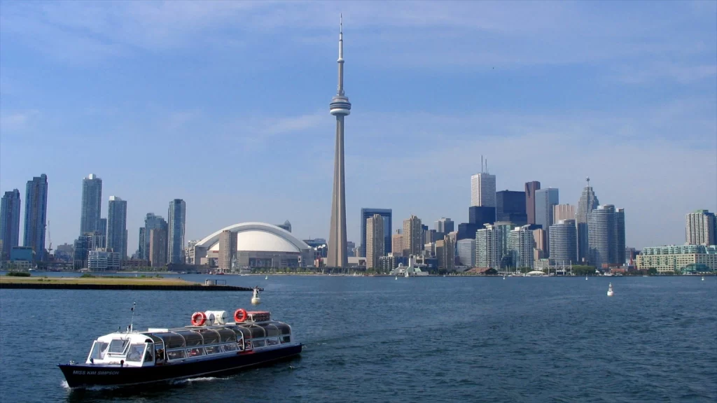
{"type": "Polygon", "coordinates": [[[601,204],[589,215],[589,262],[603,265],[625,264],[625,210],[601,204]]]}

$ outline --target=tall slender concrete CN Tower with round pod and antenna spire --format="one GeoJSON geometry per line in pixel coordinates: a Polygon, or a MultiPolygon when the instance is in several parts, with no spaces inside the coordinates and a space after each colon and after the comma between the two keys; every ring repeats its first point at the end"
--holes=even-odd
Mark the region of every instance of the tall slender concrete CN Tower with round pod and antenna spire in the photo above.
{"type": "Polygon", "coordinates": [[[333,157],[331,229],[328,232],[328,267],[348,266],[346,255],[346,190],[343,184],[343,118],[351,113],[351,103],[343,94],[343,16],[338,29],[338,88],[331,99],[331,115],[336,116],[336,154],[333,157]]]}

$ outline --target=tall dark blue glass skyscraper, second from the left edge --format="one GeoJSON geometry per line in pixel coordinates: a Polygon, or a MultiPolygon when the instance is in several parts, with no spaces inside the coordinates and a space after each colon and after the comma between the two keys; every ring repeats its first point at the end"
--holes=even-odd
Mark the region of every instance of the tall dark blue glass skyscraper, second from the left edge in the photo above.
{"type": "Polygon", "coordinates": [[[47,175],[35,176],[25,186],[25,224],[22,245],[32,247],[35,260],[44,260],[44,237],[47,225],[47,175]]]}

